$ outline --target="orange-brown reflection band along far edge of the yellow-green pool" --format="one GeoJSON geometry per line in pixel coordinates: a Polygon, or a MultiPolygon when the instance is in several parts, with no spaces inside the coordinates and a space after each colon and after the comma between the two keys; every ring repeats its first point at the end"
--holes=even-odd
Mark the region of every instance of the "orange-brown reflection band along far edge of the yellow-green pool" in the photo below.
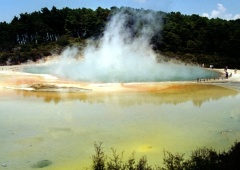
{"type": "Polygon", "coordinates": [[[24,97],[42,98],[44,102],[79,100],[86,103],[117,102],[121,106],[141,104],[171,104],[191,101],[195,106],[201,106],[210,100],[219,100],[228,96],[235,96],[237,91],[207,84],[177,84],[166,89],[150,92],[81,92],[81,93],[60,93],[17,90],[18,95],[24,97]]]}

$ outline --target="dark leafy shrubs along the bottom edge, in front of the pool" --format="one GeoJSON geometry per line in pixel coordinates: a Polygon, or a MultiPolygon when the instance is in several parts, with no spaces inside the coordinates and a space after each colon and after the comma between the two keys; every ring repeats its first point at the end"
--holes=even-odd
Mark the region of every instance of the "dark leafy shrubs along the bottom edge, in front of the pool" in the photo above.
{"type": "Polygon", "coordinates": [[[102,143],[94,144],[95,155],[92,156],[92,170],[238,170],[240,169],[240,143],[235,142],[228,152],[217,153],[213,149],[200,148],[193,151],[189,159],[184,154],[172,154],[164,151],[163,167],[150,166],[143,156],[136,161],[134,154],[123,161],[123,154],[118,155],[112,149],[113,155],[109,159],[104,154],[102,143]]]}

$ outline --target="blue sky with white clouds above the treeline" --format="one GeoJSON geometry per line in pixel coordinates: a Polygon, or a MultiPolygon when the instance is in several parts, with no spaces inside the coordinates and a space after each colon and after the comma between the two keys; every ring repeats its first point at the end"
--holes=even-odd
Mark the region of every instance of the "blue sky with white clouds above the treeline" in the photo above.
{"type": "Polygon", "coordinates": [[[0,0],[0,22],[10,23],[21,13],[41,11],[44,7],[52,9],[53,6],[57,9],[84,7],[93,10],[124,6],[226,20],[240,18],[240,0],[0,0]]]}

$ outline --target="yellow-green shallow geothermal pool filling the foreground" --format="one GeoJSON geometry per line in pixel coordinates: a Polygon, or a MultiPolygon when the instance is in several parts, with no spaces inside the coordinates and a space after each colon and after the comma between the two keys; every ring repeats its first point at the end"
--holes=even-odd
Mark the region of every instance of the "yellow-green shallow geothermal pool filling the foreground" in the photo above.
{"type": "Polygon", "coordinates": [[[0,88],[0,163],[26,170],[50,160],[46,169],[82,169],[91,165],[94,142],[103,142],[109,156],[113,147],[124,151],[124,159],[135,152],[160,165],[164,150],[187,157],[199,147],[222,151],[239,140],[239,92],[198,83],[168,87],[71,93],[0,88]]]}

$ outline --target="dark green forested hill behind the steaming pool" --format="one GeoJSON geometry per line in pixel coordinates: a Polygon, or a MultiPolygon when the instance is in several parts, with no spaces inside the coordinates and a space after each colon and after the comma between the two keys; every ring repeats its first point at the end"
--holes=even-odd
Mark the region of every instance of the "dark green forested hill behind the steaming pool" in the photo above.
{"type": "MultiPolygon", "coordinates": [[[[88,38],[97,40],[117,10],[120,9],[52,7],[20,14],[10,23],[1,22],[0,65],[36,61],[52,52],[60,53],[69,45],[81,47],[88,38]]],[[[162,19],[156,23],[162,29],[151,40],[155,51],[185,62],[240,67],[240,19],[227,21],[179,12],[157,13],[162,19]]],[[[134,21],[128,24],[131,23],[134,21]]]]}

